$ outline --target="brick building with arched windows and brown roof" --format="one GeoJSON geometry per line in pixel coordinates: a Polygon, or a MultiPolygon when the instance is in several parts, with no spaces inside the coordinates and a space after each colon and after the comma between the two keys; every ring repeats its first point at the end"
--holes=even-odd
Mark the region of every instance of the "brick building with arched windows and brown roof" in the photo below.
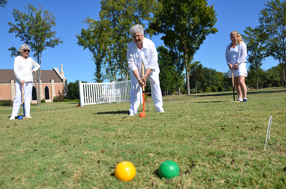
{"type": "MultiPolygon", "coordinates": [[[[0,100],[14,101],[15,79],[16,77],[12,69],[0,69],[0,100]]],[[[46,102],[52,102],[54,96],[67,95],[67,79],[65,79],[62,64],[61,71],[59,71],[57,68],[53,68],[53,70],[41,70],[40,93],[40,98],[45,98],[46,102]]],[[[35,83],[33,84],[31,103],[37,103],[35,83]]]]}

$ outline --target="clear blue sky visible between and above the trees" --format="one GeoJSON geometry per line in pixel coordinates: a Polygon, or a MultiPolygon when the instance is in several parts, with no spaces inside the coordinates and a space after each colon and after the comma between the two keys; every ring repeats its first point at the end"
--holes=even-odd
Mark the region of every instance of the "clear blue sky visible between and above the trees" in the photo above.
{"type": "MultiPolygon", "coordinates": [[[[91,59],[90,52],[78,46],[76,34],[87,25],[82,23],[87,17],[98,19],[100,12],[100,0],[94,1],[74,1],[74,0],[7,0],[6,7],[0,7],[0,33],[2,60],[0,69],[13,69],[14,57],[7,49],[12,47],[19,48],[22,42],[15,38],[15,33],[8,33],[8,22],[15,23],[12,12],[13,9],[23,10],[22,5],[28,3],[43,6],[43,9],[53,13],[56,18],[57,37],[61,37],[63,44],[55,48],[48,48],[43,51],[41,59],[42,70],[52,70],[53,67],[60,69],[63,64],[63,71],[68,83],[76,80],[94,83],[95,65],[91,59]]],[[[220,72],[228,71],[225,62],[225,49],[230,43],[230,33],[233,30],[243,34],[246,27],[255,27],[258,24],[260,10],[265,8],[267,0],[208,0],[209,5],[214,5],[217,14],[215,27],[219,30],[216,34],[210,34],[201,45],[194,56],[194,61],[200,61],[204,67],[216,69],[220,72]]],[[[147,36],[148,37],[148,36],[147,36]]],[[[159,36],[153,36],[152,41],[156,47],[164,45],[159,36]]],[[[278,65],[278,61],[268,57],[263,61],[262,68],[267,70],[278,65]]],[[[247,63],[247,68],[249,63],[247,63]]],[[[0,76],[1,77],[1,76],[0,76]]]]}

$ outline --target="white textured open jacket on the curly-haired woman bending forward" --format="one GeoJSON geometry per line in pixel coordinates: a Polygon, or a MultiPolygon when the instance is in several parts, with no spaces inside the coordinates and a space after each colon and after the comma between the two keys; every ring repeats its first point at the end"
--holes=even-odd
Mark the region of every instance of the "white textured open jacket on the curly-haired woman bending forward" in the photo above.
{"type": "MultiPolygon", "coordinates": [[[[150,39],[143,38],[143,47],[140,53],[146,70],[148,68],[152,69],[150,73],[151,75],[154,73],[159,74],[158,54],[154,43],[150,39]]],[[[130,73],[138,69],[140,75],[142,63],[140,62],[138,47],[134,41],[129,43],[127,46],[127,62],[130,68],[130,73]]]]}

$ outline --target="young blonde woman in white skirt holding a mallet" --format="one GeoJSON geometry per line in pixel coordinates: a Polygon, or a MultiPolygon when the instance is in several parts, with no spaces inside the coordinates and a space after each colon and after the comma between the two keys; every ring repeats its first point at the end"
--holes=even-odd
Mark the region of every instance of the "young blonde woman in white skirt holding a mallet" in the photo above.
{"type": "Polygon", "coordinates": [[[246,45],[237,31],[232,31],[230,37],[231,43],[227,45],[227,49],[225,51],[225,59],[229,66],[228,75],[229,78],[231,78],[231,73],[233,72],[233,80],[238,95],[237,100],[247,102],[247,87],[245,85],[245,77],[247,77],[246,45]]]}

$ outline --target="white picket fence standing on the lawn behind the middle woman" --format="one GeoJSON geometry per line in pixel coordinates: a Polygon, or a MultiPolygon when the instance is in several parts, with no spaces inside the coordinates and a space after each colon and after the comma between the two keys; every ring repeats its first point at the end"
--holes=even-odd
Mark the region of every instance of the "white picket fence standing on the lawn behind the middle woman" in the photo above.
{"type": "Polygon", "coordinates": [[[80,106],[111,102],[120,103],[122,101],[130,102],[131,80],[112,81],[111,83],[82,83],[80,81],[78,86],[80,89],[80,106]]]}

